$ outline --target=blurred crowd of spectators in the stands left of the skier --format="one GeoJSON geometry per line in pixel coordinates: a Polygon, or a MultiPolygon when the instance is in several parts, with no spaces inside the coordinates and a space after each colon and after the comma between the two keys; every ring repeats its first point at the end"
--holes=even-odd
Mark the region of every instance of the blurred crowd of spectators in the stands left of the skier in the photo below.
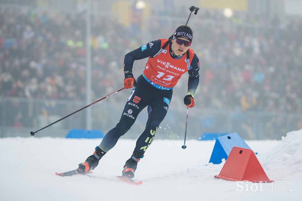
{"type": "MultiPolygon", "coordinates": [[[[97,95],[117,86],[122,57],[137,45],[119,37],[121,25],[105,21],[93,21],[92,30],[92,83],[97,95]]],[[[2,96],[85,99],[85,15],[1,9],[0,24],[2,96]]]]}

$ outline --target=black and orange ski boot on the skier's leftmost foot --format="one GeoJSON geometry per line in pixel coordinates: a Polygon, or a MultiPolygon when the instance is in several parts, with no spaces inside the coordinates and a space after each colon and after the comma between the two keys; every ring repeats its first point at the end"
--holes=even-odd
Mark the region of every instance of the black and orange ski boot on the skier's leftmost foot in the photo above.
{"type": "Polygon", "coordinates": [[[96,166],[98,166],[98,161],[105,155],[98,146],[95,148],[95,152],[91,156],[89,156],[85,162],[79,164],[79,168],[77,171],[81,173],[87,173],[93,170],[96,166]]]}

